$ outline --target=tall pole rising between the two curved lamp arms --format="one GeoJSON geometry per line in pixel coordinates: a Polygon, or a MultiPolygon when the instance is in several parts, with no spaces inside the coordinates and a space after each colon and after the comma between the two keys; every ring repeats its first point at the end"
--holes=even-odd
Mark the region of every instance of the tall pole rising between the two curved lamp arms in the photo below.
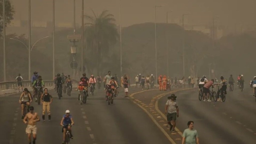
{"type": "Polygon", "coordinates": [[[30,80],[30,59],[31,59],[31,6],[30,0],[28,0],[28,80],[30,80]]]}

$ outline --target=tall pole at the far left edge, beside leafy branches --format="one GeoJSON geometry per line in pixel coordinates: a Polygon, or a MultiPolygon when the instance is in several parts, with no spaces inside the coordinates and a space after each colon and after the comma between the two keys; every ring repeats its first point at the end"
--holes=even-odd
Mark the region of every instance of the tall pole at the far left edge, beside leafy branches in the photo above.
{"type": "Polygon", "coordinates": [[[6,61],[5,61],[5,0],[3,0],[3,62],[4,62],[4,81],[6,81],[6,61]]]}

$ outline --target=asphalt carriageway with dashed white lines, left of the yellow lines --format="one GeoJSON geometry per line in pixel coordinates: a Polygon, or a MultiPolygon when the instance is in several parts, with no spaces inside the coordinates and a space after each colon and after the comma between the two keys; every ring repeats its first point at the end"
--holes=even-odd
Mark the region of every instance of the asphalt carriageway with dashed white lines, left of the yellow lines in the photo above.
{"type": "MultiPolygon", "coordinates": [[[[103,90],[96,90],[95,95],[88,97],[87,104],[80,105],[77,91],[72,91],[71,97],[63,94],[59,100],[55,91],[50,90],[54,100],[51,104],[51,121],[37,123],[37,143],[56,144],[62,142],[60,120],[69,109],[75,125],[72,127],[74,139],[71,143],[88,144],[155,144],[169,143],[161,130],[148,115],[131,99],[124,98],[123,88],[113,105],[108,105],[104,99],[103,90]]],[[[141,91],[130,88],[130,94],[141,91]]],[[[26,125],[21,119],[20,94],[1,96],[0,108],[2,115],[0,123],[1,144],[28,143],[25,133],[26,125]]],[[[35,112],[42,116],[42,105],[32,103],[35,112]]],[[[47,119],[47,116],[46,116],[47,119]]]]}

